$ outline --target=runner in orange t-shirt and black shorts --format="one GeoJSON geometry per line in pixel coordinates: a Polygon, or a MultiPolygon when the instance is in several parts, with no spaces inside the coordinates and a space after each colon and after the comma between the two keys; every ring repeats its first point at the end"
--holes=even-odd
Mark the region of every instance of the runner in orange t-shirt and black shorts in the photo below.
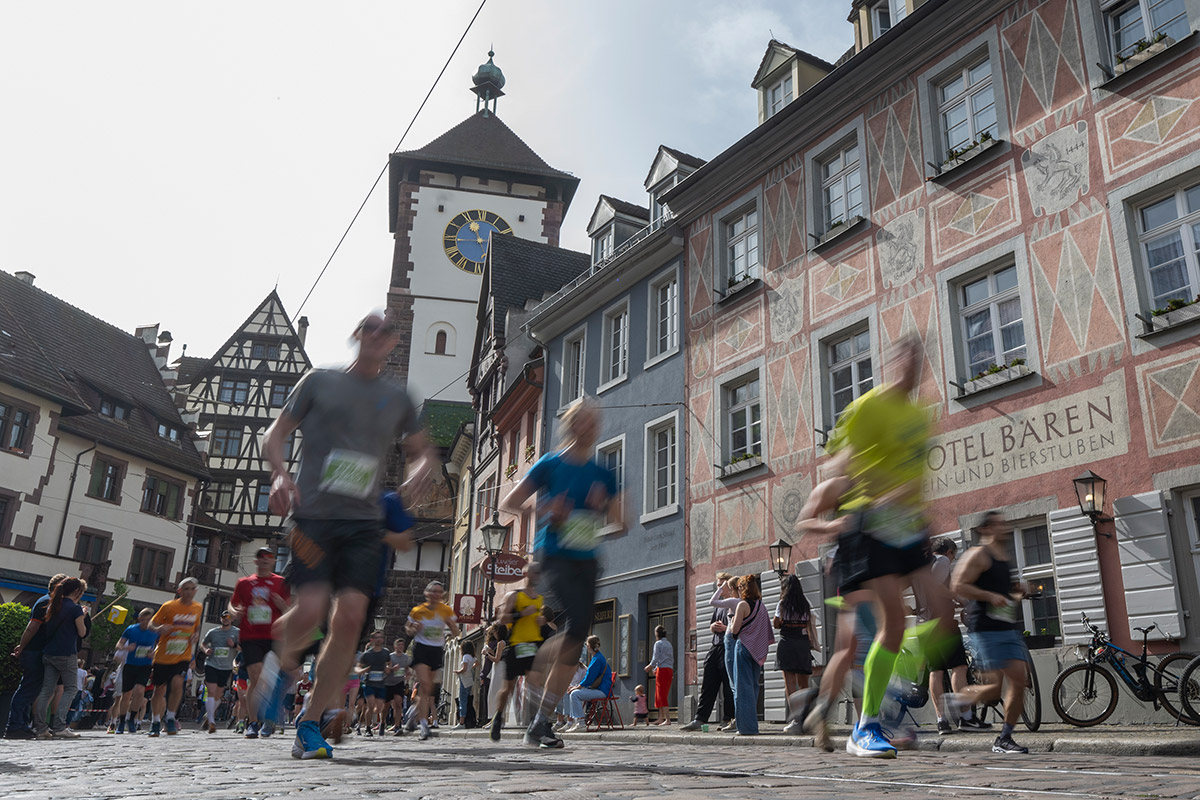
{"type": "Polygon", "coordinates": [[[150,620],[158,633],[158,643],[154,651],[154,697],[150,699],[151,714],[150,735],[157,736],[163,729],[163,711],[166,711],[167,735],[179,733],[179,721],[175,712],[184,699],[184,676],[196,656],[196,642],[199,638],[200,616],[204,608],[196,602],[196,578],[184,578],[175,589],[178,597],[164,602],[150,620]]]}

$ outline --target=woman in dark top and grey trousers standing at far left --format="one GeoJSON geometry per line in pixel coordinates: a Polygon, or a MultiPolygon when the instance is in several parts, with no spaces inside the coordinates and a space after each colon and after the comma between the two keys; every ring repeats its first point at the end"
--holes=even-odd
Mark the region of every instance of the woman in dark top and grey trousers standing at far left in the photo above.
{"type": "Polygon", "coordinates": [[[67,709],[79,691],[76,654],[79,639],[88,636],[88,615],[79,604],[86,584],[79,578],[67,578],[54,588],[50,607],[46,612],[46,646],[42,649],[44,676],[42,691],[34,702],[34,732],[38,739],[77,739],[79,734],[67,728],[67,709]],[[59,681],[62,698],[54,718],[47,723],[50,698],[59,681]]]}

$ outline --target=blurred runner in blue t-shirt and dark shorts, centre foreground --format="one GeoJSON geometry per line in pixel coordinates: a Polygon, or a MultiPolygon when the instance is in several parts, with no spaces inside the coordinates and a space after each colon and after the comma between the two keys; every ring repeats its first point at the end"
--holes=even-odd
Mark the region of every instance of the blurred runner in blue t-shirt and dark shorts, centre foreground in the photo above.
{"type": "Polygon", "coordinates": [[[551,716],[570,684],[580,649],[592,626],[598,576],[596,530],[606,523],[605,515],[613,504],[620,529],[625,527],[617,479],[593,458],[600,413],[590,403],[576,401],[563,414],[562,429],[564,449],[539,458],[502,504],[505,511],[520,513],[529,498],[539,491],[545,492],[540,509],[544,523],[538,529],[534,555],[541,561],[542,577],[559,612],[562,630],[538,651],[536,666],[526,680],[528,706],[536,714],[524,741],[546,750],[563,746],[551,716]],[[545,685],[533,675],[544,675],[545,685]]]}

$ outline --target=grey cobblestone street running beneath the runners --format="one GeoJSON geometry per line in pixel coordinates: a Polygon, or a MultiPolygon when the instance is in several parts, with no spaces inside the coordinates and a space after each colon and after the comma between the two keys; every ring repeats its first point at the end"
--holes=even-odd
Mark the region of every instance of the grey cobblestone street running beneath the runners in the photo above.
{"type": "MultiPolygon", "coordinates": [[[[290,735],[246,741],[209,736],[110,736],[0,742],[5,800],[169,796],[178,800],[274,798],[1194,798],[1193,759],[988,752],[907,752],[866,762],[809,747],[637,745],[568,739],[558,752],[443,735],[352,738],[332,762],[298,762],[290,735]]],[[[737,744],[732,744],[737,742],[737,744]]],[[[986,744],[978,739],[980,748],[986,744]]]]}

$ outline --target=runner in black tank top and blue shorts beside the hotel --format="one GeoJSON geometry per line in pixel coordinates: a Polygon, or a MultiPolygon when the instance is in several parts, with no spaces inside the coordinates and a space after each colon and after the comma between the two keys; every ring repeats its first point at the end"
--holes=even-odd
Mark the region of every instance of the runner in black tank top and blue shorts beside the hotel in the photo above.
{"type": "Polygon", "coordinates": [[[972,547],[959,563],[950,582],[954,594],[967,599],[967,631],[971,644],[986,670],[984,684],[967,686],[960,694],[946,694],[953,714],[972,705],[986,705],[1004,697],[1004,727],[991,745],[994,753],[1027,753],[1013,741],[1013,727],[1025,705],[1025,663],[1028,650],[1020,634],[1020,596],[1026,587],[1014,579],[1008,554],[1013,527],[998,511],[989,511],[977,529],[979,547],[972,547]]]}

